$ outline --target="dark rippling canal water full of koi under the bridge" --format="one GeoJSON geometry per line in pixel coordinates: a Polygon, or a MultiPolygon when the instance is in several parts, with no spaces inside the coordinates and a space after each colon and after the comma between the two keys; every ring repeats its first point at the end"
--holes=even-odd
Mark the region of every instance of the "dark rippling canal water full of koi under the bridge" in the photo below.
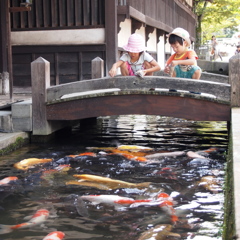
{"type": "Polygon", "coordinates": [[[227,144],[226,122],[88,119],[51,143],[0,158],[0,180],[18,178],[0,184],[0,240],[40,240],[53,231],[66,240],[222,239],[227,144]],[[52,161],[19,169],[29,158],[52,161]],[[39,209],[49,217],[35,224],[39,209]],[[31,224],[11,228],[24,222],[31,224]]]}

